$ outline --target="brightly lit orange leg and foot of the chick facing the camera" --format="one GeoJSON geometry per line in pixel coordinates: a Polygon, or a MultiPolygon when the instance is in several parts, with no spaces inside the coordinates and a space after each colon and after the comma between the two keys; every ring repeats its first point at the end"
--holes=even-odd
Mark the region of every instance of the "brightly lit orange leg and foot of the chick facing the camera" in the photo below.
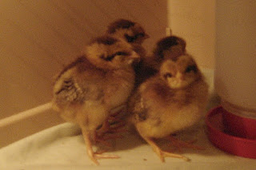
{"type": "MultiPolygon", "coordinates": [[[[142,136],[142,135],[141,135],[142,136]]],[[[150,144],[150,146],[153,148],[154,152],[156,152],[160,158],[160,160],[162,162],[165,162],[165,157],[175,157],[175,158],[181,158],[183,160],[186,160],[186,161],[189,161],[190,159],[187,158],[186,156],[182,156],[182,155],[178,155],[178,154],[175,154],[175,153],[171,153],[171,152],[165,152],[165,151],[162,151],[161,148],[158,147],[157,144],[154,143],[154,140],[150,139],[149,137],[146,137],[146,136],[142,136],[142,138],[144,140],[146,140],[146,142],[148,144],[150,144]]]]}

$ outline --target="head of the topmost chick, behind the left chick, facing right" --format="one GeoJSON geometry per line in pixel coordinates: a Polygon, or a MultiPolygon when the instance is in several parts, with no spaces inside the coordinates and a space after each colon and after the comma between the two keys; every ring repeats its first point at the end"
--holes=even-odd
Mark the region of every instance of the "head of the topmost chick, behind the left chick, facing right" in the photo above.
{"type": "Polygon", "coordinates": [[[107,33],[131,44],[142,44],[146,38],[150,38],[140,24],[126,19],[118,19],[110,23],[107,33]]]}

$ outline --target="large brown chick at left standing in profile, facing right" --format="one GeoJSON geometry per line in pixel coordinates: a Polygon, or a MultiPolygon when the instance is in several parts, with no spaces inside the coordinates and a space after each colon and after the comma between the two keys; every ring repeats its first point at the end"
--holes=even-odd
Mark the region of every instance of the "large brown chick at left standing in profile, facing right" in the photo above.
{"type": "Polygon", "coordinates": [[[54,83],[54,110],[82,128],[87,154],[95,164],[100,158],[118,158],[94,152],[92,144],[96,129],[110,116],[110,110],[126,103],[134,89],[132,63],[137,57],[124,41],[110,36],[97,38],[54,83]]]}

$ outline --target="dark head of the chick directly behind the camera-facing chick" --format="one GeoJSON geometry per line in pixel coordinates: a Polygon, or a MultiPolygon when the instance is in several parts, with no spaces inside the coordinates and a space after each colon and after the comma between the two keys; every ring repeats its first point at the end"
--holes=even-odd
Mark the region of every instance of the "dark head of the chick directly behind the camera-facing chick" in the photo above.
{"type": "Polygon", "coordinates": [[[157,42],[154,56],[159,59],[177,60],[178,56],[186,52],[186,42],[182,38],[169,36],[157,42]]]}

